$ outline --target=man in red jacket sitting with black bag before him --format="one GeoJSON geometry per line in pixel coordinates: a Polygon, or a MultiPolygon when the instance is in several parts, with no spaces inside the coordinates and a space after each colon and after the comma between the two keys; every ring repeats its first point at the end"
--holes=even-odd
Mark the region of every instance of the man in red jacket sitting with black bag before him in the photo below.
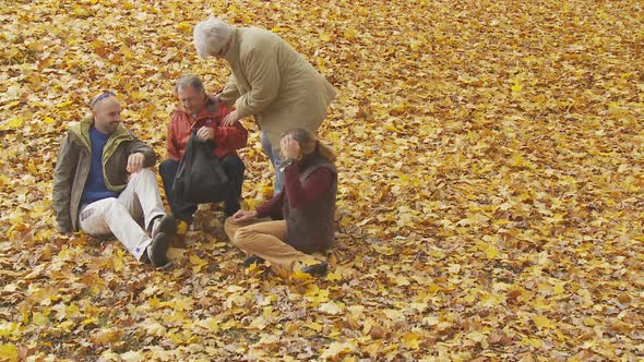
{"type": "Polygon", "coordinates": [[[215,142],[213,153],[222,162],[229,180],[227,192],[218,196],[224,202],[224,213],[226,216],[230,216],[239,209],[245,171],[243,161],[237,155],[236,149],[246,146],[248,131],[239,122],[223,125],[222,121],[230,112],[230,109],[220,104],[216,97],[208,96],[196,75],[181,76],[177,81],[175,93],[179,104],[168,125],[168,159],[159,165],[159,173],[172,214],[175,218],[191,224],[196,210],[194,203],[174,200],[171,192],[188,140],[193,132],[196,132],[196,137],[200,141],[212,140],[215,142]]]}

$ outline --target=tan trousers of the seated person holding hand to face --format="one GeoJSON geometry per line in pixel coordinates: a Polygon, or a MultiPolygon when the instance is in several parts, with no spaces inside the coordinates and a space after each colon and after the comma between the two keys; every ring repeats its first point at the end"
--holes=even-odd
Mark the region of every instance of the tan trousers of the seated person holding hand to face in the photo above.
{"type": "Polygon", "coordinates": [[[296,270],[300,263],[313,257],[290,246],[286,240],[286,221],[251,220],[235,224],[227,218],[224,229],[228,239],[248,255],[257,255],[272,264],[296,270]]]}

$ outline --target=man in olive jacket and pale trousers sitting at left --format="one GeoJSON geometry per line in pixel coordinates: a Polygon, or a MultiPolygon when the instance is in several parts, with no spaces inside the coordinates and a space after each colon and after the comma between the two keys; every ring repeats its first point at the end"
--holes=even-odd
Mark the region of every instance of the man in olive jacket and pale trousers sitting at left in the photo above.
{"type": "Polygon", "coordinates": [[[112,233],[138,261],[170,265],[166,256],[177,221],[163,207],[156,154],[121,124],[112,92],[90,104],[92,116],[72,123],[53,172],[52,207],[59,232],[112,233]],[[143,216],[143,228],[136,222],[143,216]]]}

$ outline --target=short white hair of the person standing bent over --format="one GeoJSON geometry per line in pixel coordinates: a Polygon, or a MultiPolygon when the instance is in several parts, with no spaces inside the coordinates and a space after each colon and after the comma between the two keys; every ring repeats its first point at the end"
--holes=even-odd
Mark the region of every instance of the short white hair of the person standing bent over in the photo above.
{"type": "Polygon", "coordinates": [[[194,48],[200,58],[216,55],[228,44],[232,26],[217,17],[208,17],[194,26],[194,48]]]}

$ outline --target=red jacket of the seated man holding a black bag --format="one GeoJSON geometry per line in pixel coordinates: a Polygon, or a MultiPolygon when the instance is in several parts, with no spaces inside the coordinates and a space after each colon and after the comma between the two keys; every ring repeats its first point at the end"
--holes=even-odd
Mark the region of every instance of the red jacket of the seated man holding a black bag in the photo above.
{"type": "Polygon", "coordinates": [[[217,144],[213,149],[215,156],[222,158],[228,154],[237,155],[236,149],[246,146],[248,131],[239,122],[235,122],[231,126],[222,125],[222,121],[229,112],[228,107],[211,96],[206,100],[205,107],[196,114],[194,123],[191,124],[192,114],[179,106],[175,108],[172,119],[168,125],[168,158],[176,161],[181,160],[192,132],[202,126],[215,131],[215,143],[217,144]]]}

